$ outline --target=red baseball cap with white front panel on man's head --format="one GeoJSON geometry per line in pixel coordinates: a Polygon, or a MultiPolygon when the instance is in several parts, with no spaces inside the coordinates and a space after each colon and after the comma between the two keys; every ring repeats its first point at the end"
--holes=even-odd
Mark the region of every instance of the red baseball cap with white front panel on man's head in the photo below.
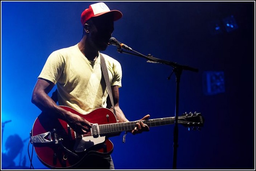
{"type": "Polygon", "coordinates": [[[92,17],[97,17],[103,15],[105,13],[113,13],[114,21],[117,21],[122,18],[123,14],[118,10],[111,10],[105,3],[96,3],[89,6],[89,8],[85,9],[85,11],[81,14],[81,23],[84,25],[86,21],[88,21],[92,17]]]}

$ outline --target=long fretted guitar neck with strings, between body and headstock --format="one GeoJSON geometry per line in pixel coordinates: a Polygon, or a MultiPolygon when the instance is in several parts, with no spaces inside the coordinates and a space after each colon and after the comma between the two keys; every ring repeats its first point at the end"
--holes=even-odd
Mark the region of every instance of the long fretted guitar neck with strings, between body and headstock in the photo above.
{"type": "MultiPolygon", "coordinates": [[[[130,131],[134,129],[134,127],[136,126],[136,123],[138,122],[139,121],[99,125],[99,134],[105,135],[105,134],[118,133],[122,131],[130,131]]],[[[180,121],[178,120],[178,123],[179,122],[180,121]]],[[[149,127],[170,125],[175,123],[175,117],[143,120],[143,123],[147,124],[149,127]]]]}

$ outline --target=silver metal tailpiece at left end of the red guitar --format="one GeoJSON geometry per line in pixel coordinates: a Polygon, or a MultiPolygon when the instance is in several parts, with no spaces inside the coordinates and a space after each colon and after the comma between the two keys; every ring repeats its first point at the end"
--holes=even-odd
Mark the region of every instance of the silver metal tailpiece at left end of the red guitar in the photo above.
{"type": "MultiPolygon", "coordinates": [[[[55,130],[54,130],[55,131],[55,130]]],[[[55,143],[57,144],[58,141],[56,138],[52,139],[52,134],[54,134],[54,131],[49,131],[46,133],[42,133],[36,136],[31,137],[31,142],[32,143],[55,143]]],[[[55,134],[54,134],[55,137],[55,134]]]]}

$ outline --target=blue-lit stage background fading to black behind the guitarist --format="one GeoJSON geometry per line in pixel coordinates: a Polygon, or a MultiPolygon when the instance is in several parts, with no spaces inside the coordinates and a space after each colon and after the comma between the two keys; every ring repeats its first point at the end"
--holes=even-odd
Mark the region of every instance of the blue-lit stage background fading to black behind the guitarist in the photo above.
{"type": "MultiPolygon", "coordinates": [[[[92,3],[1,2],[1,151],[10,135],[24,141],[17,169],[30,166],[29,132],[41,113],[31,103],[37,77],[51,52],[80,41],[80,16],[92,3]]],[[[144,55],[199,69],[182,72],[179,115],[197,111],[205,123],[200,131],[179,125],[177,169],[255,169],[255,2],[105,3],[123,13],[115,22],[117,40],[144,55]],[[227,32],[222,22],[229,16],[238,28],[227,32]],[[222,32],[211,28],[215,21],[222,32]],[[207,71],[224,73],[224,92],[204,93],[207,71]]],[[[167,80],[172,67],[116,50],[109,46],[103,53],[122,65],[120,106],[126,117],[173,117],[175,75],[167,80]]],[[[112,137],[115,169],[172,169],[173,131],[174,125],[151,127],[127,134],[126,143],[123,134],[112,137]]],[[[33,166],[48,169],[35,153],[33,166]]]]}

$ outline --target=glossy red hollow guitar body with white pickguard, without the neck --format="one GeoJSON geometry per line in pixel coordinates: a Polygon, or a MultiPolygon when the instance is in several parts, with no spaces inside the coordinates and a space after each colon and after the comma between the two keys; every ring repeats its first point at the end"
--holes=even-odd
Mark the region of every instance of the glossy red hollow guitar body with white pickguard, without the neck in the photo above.
{"type": "MultiPolygon", "coordinates": [[[[117,123],[113,112],[106,108],[98,108],[82,115],[70,107],[60,107],[98,125],[117,123]]],[[[36,118],[31,140],[39,160],[46,167],[54,169],[74,168],[85,156],[90,154],[106,156],[113,151],[113,143],[106,136],[95,136],[91,132],[77,135],[65,121],[46,113],[41,113],[36,118]]]]}

